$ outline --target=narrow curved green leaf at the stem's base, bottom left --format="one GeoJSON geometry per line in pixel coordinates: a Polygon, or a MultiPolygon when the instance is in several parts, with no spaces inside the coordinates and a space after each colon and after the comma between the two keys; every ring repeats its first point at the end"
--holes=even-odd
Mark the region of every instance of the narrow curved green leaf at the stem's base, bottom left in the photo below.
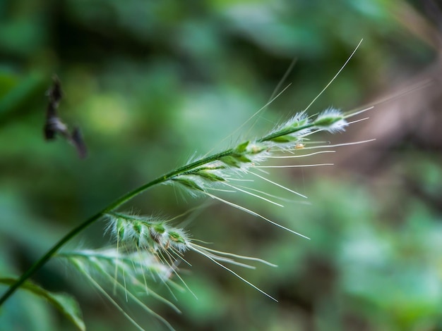
{"type": "MultiPolygon", "coordinates": [[[[12,277],[0,278],[0,283],[5,285],[13,285],[15,282],[16,279],[12,277]]],[[[86,330],[83,317],[81,316],[80,306],[73,296],[65,293],[49,292],[29,281],[25,282],[21,288],[27,289],[33,294],[47,299],[52,306],[57,308],[64,316],[66,316],[66,318],[68,318],[68,320],[71,320],[71,322],[78,327],[78,330],[86,330]]]]}

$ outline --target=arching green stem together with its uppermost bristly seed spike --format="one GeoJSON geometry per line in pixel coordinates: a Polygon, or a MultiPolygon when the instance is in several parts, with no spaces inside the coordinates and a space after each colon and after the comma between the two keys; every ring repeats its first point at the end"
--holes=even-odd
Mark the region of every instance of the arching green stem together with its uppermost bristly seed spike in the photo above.
{"type": "MultiPolygon", "coordinates": [[[[362,42],[362,41],[361,41],[362,42]]],[[[342,66],[342,68],[338,71],[338,73],[333,77],[332,80],[328,83],[328,85],[325,86],[325,88],[316,96],[313,101],[309,104],[309,106],[306,107],[304,112],[298,114],[298,117],[292,118],[288,123],[285,123],[282,127],[277,128],[276,130],[273,130],[268,135],[265,135],[264,137],[261,137],[260,139],[254,140],[254,142],[244,142],[243,144],[239,144],[238,146],[227,149],[225,151],[222,151],[217,154],[213,154],[207,157],[203,157],[197,161],[194,161],[192,163],[189,163],[187,165],[182,166],[181,168],[178,168],[176,170],[172,170],[169,173],[166,173],[165,175],[162,175],[160,177],[157,177],[155,180],[152,180],[151,182],[146,183],[145,185],[142,185],[140,187],[137,187],[136,189],[133,189],[133,191],[128,192],[121,196],[119,199],[116,199],[108,206],[104,207],[102,211],[99,211],[94,216],[91,216],[87,220],[85,220],[83,223],[80,223],[77,227],[73,228],[70,232],[68,232],[63,238],[59,240],[59,242],[56,242],[54,246],[52,246],[51,249],[47,251],[46,254],[44,254],[39,260],[37,260],[28,270],[21,275],[18,280],[11,285],[11,287],[8,288],[8,290],[1,296],[0,298],[0,306],[4,304],[4,302],[13,294],[16,292],[18,287],[20,285],[23,285],[23,283],[28,280],[37,270],[42,268],[47,261],[49,261],[50,258],[52,258],[57,251],[61,248],[61,246],[64,246],[66,242],[71,240],[73,237],[76,237],[81,231],[85,230],[86,227],[89,225],[92,225],[92,223],[95,223],[97,220],[99,220],[102,216],[104,216],[106,213],[109,213],[111,211],[114,211],[115,208],[118,208],[122,204],[125,204],[127,201],[132,199],[134,196],[137,196],[138,194],[141,194],[145,190],[149,189],[150,187],[153,187],[154,185],[165,183],[169,180],[181,183],[181,185],[184,185],[190,189],[193,189],[195,191],[198,191],[200,193],[206,194],[208,196],[212,196],[215,199],[218,199],[220,201],[224,201],[225,203],[229,204],[230,206],[235,206],[236,208],[240,208],[243,211],[247,211],[249,213],[252,213],[253,215],[260,216],[257,213],[254,213],[253,211],[249,211],[248,209],[238,206],[236,204],[233,204],[229,201],[225,201],[223,199],[220,199],[216,196],[213,196],[212,194],[209,194],[208,192],[205,192],[205,189],[203,187],[199,186],[197,182],[193,181],[192,178],[188,178],[189,176],[199,176],[200,179],[206,179],[209,182],[222,182],[225,181],[225,178],[219,177],[215,173],[209,173],[210,170],[217,170],[217,169],[225,169],[225,168],[237,168],[241,169],[243,168],[243,171],[247,171],[247,169],[253,165],[253,161],[251,161],[253,158],[256,157],[256,162],[259,162],[259,155],[262,154],[268,154],[266,153],[270,149],[272,149],[273,146],[278,146],[281,142],[287,143],[292,142],[292,144],[296,144],[297,142],[301,142],[302,135],[310,135],[313,132],[318,132],[321,130],[328,131],[328,132],[338,132],[344,130],[344,127],[347,125],[345,123],[345,119],[347,117],[350,117],[354,115],[355,113],[350,113],[349,115],[343,115],[340,113],[340,111],[335,110],[333,108],[329,108],[326,111],[323,111],[323,113],[319,114],[316,118],[316,120],[310,121],[308,118],[306,118],[305,111],[313,104],[316,99],[318,99],[321,94],[327,89],[327,87],[335,80],[335,78],[338,76],[338,74],[342,71],[342,69],[345,67],[348,61],[350,61],[350,58],[354,55],[354,52],[357,50],[359,45],[357,45],[356,49],[354,49],[352,55],[347,59],[345,64],[342,66]],[[288,140],[285,140],[288,139],[288,140]],[[250,144],[251,143],[251,144],[250,144]],[[259,154],[259,155],[258,155],[259,154]],[[215,166],[213,168],[204,168],[201,167],[203,165],[210,165],[210,163],[223,163],[222,166],[215,166]],[[198,168],[199,167],[199,168],[198,168]]],[[[366,111],[365,109],[364,111],[366,111]]],[[[260,110],[261,111],[261,110],[260,110]]],[[[359,113],[359,112],[358,112],[359,113]]],[[[284,144],[282,143],[282,144],[284,144]]],[[[282,145],[280,145],[282,146],[282,145]]],[[[266,157],[266,156],[265,156],[266,157]]],[[[264,158],[265,158],[264,157],[264,158]]],[[[263,218],[263,216],[260,216],[263,218]]],[[[265,220],[268,220],[267,218],[264,218],[265,220]]],[[[273,221],[268,220],[270,223],[273,223],[273,221]]],[[[273,223],[275,224],[275,223],[273,223]]],[[[278,225],[279,227],[282,227],[282,225],[278,225]]],[[[285,227],[282,227],[285,228],[285,227]]],[[[288,230],[287,228],[285,228],[288,230]]],[[[289,230],[290,232],[294,232],[292,230],[289,230]]],[[[297,234],[297,232],[294,232],[297,234]]],[[[305,237],[305,236],[302,236],[305,237]]]]}

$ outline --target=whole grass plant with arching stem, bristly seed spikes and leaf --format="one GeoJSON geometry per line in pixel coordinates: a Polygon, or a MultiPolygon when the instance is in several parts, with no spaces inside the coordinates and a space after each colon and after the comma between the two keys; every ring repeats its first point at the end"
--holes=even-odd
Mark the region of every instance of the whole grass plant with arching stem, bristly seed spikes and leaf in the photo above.
{"type": "MultiPolygon", "coordinates": [[[[351,57],[352,56],[350,56],[350,58],[351,57]]],[[[349,60],[347,60],[347,62],[349,60]]],[[[342,68],[344,68],[344,66],[342,66],[342,68]]],[[[250,208],[246,208],[230,201],[222,194],[223,192],[241,192],[249,194],[261,201],[265,201],[266,203],[282,206],[282,204],[278,202],[276,196],[272,196],[267,192],[258,191],[244,185],[244,183],[247,183],[251,178],[254,178],[270,182],[279,189],[292,194],[303,196],[289,187],[280,185],[265,177],[265,170],[263,169],[309,167],[330,165],[330,163],[267,165],[265,162],[268,162],[271,159],[296,159],[309,157],[314,154],[327,153],[330,152],[330,148],[345,145],[318,143],[311,140],[311,136],[324,131],[329,133],[342,132],[345,130],[345,127],[350,124],[348,122],[349,118],[372,107],[364,108],[360,111],[351,111],[350,113],[342,113],[342,111],[335,108],[328,108],[313,116],[309,116],[306,113],[306,111],[313,105],[314,101],[316,101],[333,80],[335,80],[342,68],[338,71],[335,77],[330,80],[328,85],[325,86],[318,96],[311,101],[304,111],[295,114],[292,118],[285,121],[285,123],[278,125],[275,129],[268,132],[268,134],[263,135],[263,137],[249,139],[236,144],[236,146],[226,149],[225,151],[198,158],[196,161],[191,161],[181,168],[172,170],[171,172],[157,177],[155,180],[134,189],[128,194],[121,196],[121,198],[103,208],[102,211],[99,211],[94,216],[88,218],[88,220],[80,223],[78,227],[74,228],[71,232],[68,232],[65,237],[61,238],[52,249],[49,249],[42,258],[25,271],[25,273],[23,273],[23,275],[17,280],[12,280],[11,277],[0,279],[0,282],[10,285],[8,290],[0,298],[0,306],[9,296],[11,296],[11,294],[16,292],[19,287],[23,287],[23,289],[28,289],[35,294],[49,298],[49,301],[59,308],[66,316],[71,318],[80,330],[84,330],[85,326],[81,320],[78,306],[76,306],[76,302],[73,301],[73,299],[68,296],[50,294],[28,281],[35,271],[40,269],[45,263],[47,263],[47,261],[49,261],[49,259],[57,257],[69,261],[71,266],[75,267],[80,273],[85,275],[85,277],[92,282],[92,285],[94,285],[99,292],[102,292],[109,301],[115,304],[124,316],[126,316],[126,318],[128,318],[131,323],[136,325],[140,330],[143,330],[143,328],[138,325],[136,320],[133,320],[123,308],[121,308],[117,299],[114,299],[114,297],[109,294],[109,291],[107,290],[108,287],[113,288],[114,294],[121,292],[126,300],[130,298],[132,301],[136,302],[136,304],[139,304],[145,311],[162,320],[167,327],[173,329],[172,325],[169,325],[167,320],[158,316],[153,310],[144,304],[143,301],[141,301],[140,293],[153,296],[155,299],[168,304],[174,310],[179,311],[172,302],[167,301],[167,299],[150,289],[149,284],[152,281],[160,280],[167,287],[173,287],[174,289],[186,288],[185,282],[181,279],[178,273],[179,270],[177,266],[177,261],[186,262],[184,259],[185,251],[195,251],[196,253],[205,256],[205,258],[213,261],[218,266],[229,271],[229,273],[239,277],[239,279],[246,282],[246,284],[276,301],[273,296],[270,296],[270,294],[259,289],[256,285],[253,285],[251,282],[244,279],[244,277],[241,277],[241,275],[226,266],[227,263],[230,263],[245,268],[253,268],[253,266],[250,266],[245,262],[254,261],[274,266],[272,263],[263,261],[260,258],[239,256],[224,251],[216,251],[201,244],[197,244],[198,241],[196,239],[191,238],[191,236],[181,227],[172,225],[167,218],[158,216],[138,216],[132,213],[118,211],[118,209],[133,199],[133,197],[138,196],[141,192],[144,192],[155,185],[175,185],[184,189],[191,196],[210,197],[237,208],[240,211],[249,213],[252,216],[261,218],[262,220],[292,232],[295,235],[307,238],[304,235],[251,210],[250,208]],[[310,150],[313,149],[318,151],[310,152],[310,150]],[[263,171],[263,173],[261,173],[261,171],[263,171]],[[114,246],[100,250],[85,249],[59,253],[61,246],[64,246],[66,242],[73,239],[73,237],[76,237],[86,227],[102,218],[107,218],[108,220],[107,231],[111,233],[112,237],[114,237],[114,242],[116,242],[114,246]],[[100,277],[100,280],[97,280],[97,276],[100,277]],[[177,278],[179,283],[174,282],[174,278],[177,278]],[[100,281],[106,282],[107,285],[101,284],[100,281]]],[[[273,101],[273,99],[271,101],[273,101]]],[[[264,108],[265,107],[261,108],[261,110],[253,115],[252,118],[263,111],[264,108]]],[[[362,142],[354,142],[350,144],[358,143],[362,142]]]]}

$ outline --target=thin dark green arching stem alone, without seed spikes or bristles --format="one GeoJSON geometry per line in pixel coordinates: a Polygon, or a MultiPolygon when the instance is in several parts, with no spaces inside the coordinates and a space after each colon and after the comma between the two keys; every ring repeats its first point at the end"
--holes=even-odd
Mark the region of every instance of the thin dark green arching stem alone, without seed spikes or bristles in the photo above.
{"type": "Polygon", "coordinates": [[[21,277],[13,285],[11,285],[11,287],[8,288],[8,290],[3,294],[3,296],[1,296],[0,306],[4,303],[4,301],[6,301],[6,299],[8,299],[9,296],[11,296],[11,294],[16,292],[18,287],[23,285],[23,283],[26,280],[28,280],[28,278],[30,278],[37,270],[42,268],[42,266],[44,266],[44,264],[47,263],[47,261],[49,261],[49,259],[52,258],[52,256],[54,256],[54,254],[56,254],[57,251],[59,251],[61,246],[64,246],[64,244],[66,244],[66,242],[68,242],[73,237],[78,235],[78,233],[83,231],[86,227],[88,227],[92,223],[95,223],[95,221],[98,220],[99,218],[101,218],[105,213],[112,211],[113,209],[121,206],[122,204],[125,204],[127,201],[132,199],[134,196],[140,194],[141,192],[144,192],[145,190],[149,189],[150,187],[153,187],[154,185],[166,182],[170,178],[172,178],[176,175],[179,175],[181,173],[185,173],[186,171],[189,171],[193,168],[197,168],[200,165],[210,163],[212,161],[217,161],[220,158],[222,158],[223,156],[228,156],[229,154],[232,154],[232,152],[233,152],[233,149],[227,149],[227,151],[222,151],[221,153],[214,154],[212,156],[208,156],[207,158],[201,158],[201,160],[195,161],[195,162],[190,163],[188,165],[184,165],[183,167],[173,170],[170,173],[167,173],[165,175],[157,177],[157,179],[155,179],[151,182],[148,182],[147,184],[142,185],[141,187],[138,187],[138,188],[134,189],[133,191],[124,194],[124,196],[121,196],[119,199],[113,201],[107,207],[102,209],[102,211],[99,211],[94,216],[88,218],[83,223],[81,223],[77,227],[73,228],[73,230],[68,232],[68,234],[65,235],[63,238],[61,238],[59,240],[59,242],[54,244],[54,246],[52,246],[52,248],[49,249],[49,251],[47,251],[47,253],[44,254],[44,256],[42,256],[28,270],[26,270],[25,273],[23,273],[23,275],[21,275],[21,277]]]}

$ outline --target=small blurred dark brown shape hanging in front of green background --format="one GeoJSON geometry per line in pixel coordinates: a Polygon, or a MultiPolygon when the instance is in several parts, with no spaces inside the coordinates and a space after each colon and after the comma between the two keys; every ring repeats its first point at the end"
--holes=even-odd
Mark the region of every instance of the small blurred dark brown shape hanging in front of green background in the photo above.
{"type": "Polygon", "coordinates": [[[54,140],[56,139],[56,135],[60,134],[76,147],[78,156],[80,156],[80,158],[85,158],[88,152],[80,129],[78,127],[74,127],[72,133],[69,132],[67,125],[64,124],[59,118],[57,111],[60,100],[63,97],[63,92],[61,91],[59,77],[54,75],[52,80],[53,85],[47,92],[49,104],[47,105],[46,121],[44,122],[44,138],[46,140],[54,140]]]}

